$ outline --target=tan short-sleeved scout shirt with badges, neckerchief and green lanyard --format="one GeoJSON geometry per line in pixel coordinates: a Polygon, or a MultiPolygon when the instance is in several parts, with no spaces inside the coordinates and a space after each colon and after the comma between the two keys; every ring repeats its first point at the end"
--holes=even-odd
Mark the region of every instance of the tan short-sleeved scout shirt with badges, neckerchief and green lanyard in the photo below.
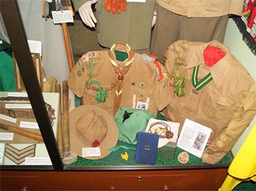
{"type": "Polygon", "coordinates": [[[144,61],[150,58],[143,60],[144,56],[134,53],[126,43],[88,52],[71,71],[68,87],[77,97],[83,97],[84,105],[97,105],[112,115],[124,107],[157,114],[170,102],[170,76],[159,63],[144,61]],[[128,58],[118,61],[116,50],[125,51],[128,58]]]}

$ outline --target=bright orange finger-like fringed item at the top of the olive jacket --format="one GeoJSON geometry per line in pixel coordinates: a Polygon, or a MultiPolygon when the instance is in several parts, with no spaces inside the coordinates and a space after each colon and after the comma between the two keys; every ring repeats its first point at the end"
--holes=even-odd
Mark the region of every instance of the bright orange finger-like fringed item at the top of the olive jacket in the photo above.
{"type": "Polygon", "coordinates": [[[105,0],[104,8],[113,14],[120,14],[121,11],[126,11],[126,0],[105,0]]]}

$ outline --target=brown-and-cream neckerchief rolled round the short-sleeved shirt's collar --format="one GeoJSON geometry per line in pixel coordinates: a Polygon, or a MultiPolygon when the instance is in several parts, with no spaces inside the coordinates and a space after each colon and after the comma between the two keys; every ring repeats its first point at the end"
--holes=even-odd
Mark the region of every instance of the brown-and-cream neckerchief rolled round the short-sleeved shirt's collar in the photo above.
{"type": "Polygon", "coordinates": [[[114,43],[109,50],[109,59],[111,61],[111,64],[113,66],[117,66],[118,68],[120,67],[120,63],[122,63],[123,67],[129,66],[134,61],[134,51],[131,50],[129,45],[125,42],[114,43]],[[125,59],[125,61],[122,61],[122,62],[117,61],[114,50],[121,50],[121,51],[127,52],[128,54],[127,59],[125,59]]]}

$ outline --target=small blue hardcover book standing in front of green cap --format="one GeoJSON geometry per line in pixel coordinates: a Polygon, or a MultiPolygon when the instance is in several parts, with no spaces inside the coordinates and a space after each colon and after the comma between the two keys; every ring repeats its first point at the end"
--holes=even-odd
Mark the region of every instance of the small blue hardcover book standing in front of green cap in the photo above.
{"type": "Polygon", "coordinates": [[[156,164],[158,134],[149,132],[137,133],[137,145],[135,161],[136,163],[143,163],[148,165],[156,164]]]}

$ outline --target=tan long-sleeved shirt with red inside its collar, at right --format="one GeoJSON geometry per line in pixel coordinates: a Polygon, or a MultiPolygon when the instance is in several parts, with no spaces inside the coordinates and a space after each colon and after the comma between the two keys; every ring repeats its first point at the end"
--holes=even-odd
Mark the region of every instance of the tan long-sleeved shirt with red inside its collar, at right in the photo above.
{"type": "Polygon", "coordinates": [[[235,59],[228,47],[218,41],[210,43],[176,41],[165,52],[167,71],[174,72],[175,59],[180,66],[176,75],[185,72],[185,96],[172,95],[165,108],[165,117],[183,126],[185,119],[212,129],[210,145],[203,152],[203,161],[216,163],[235,144],[256,113],[256,85],[244,66],[235,59]],[[220,48],[225,56],[212,67],[205,65],[203,50],[208,46],[220,48]],[[209,72],[212,81],[194,91],[192,71],[199,66],[198,80],[209,72]]]}

